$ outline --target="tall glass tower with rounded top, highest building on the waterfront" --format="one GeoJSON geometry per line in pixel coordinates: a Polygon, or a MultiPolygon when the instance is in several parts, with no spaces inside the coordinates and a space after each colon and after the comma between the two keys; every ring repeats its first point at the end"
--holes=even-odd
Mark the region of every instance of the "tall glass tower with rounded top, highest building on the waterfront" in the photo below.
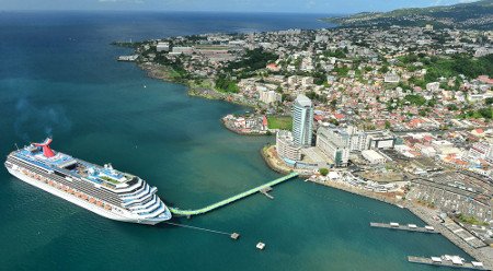
{"type": "Polygon", "coordinates": [[[300,94],[293,106],[293,138],[297,145],[310,146],[313,127],[313,104],[300,94]]]}

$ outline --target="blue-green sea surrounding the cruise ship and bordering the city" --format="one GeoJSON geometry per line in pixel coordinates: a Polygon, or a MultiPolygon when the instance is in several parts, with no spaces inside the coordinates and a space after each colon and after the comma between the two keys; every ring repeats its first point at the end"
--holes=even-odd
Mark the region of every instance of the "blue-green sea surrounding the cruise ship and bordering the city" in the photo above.
{"type": "MultiPolygon", "coordinates": [[[[221,126],[248,108],[188,97],[152,80],[113,40],[211,32],[320,28],[323,15],[1,12],[0,153],[54,137],[53,148],[113,163],[195,209],[279,177],[261,158],[267,137],[221,126]],[[147,87],[145,87],[147,86],[147,87]]],[[[435,270],[409,255],[461,255],[439,235],[370,228],[423,222],[406,210],[295,179],[211,213],[146,226],[106,220],[0,168],[1,270],[435,270]],[[257,241],[266,249],[255,248],[257,241]]],[[[440,269],[445,270],[445,269],[440,269]]]]}

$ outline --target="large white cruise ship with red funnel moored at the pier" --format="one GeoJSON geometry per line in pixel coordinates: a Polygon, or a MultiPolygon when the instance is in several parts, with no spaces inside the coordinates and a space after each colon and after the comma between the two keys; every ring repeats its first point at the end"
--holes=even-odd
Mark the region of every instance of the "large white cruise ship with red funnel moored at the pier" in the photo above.
{"type": "Polygon", "coordinates": [[[154,225],[171,219],[157,188],[122,173],[56,152],[51,139],[10,153],[5,167],[19,179],[104,217],[154,225]]]}

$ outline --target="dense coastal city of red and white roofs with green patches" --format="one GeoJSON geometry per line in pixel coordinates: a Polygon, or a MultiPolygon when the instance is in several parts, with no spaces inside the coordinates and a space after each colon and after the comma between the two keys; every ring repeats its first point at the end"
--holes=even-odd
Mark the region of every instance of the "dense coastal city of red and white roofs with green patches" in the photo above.
{"type": "Polygon", "coordinates": [[[262,150],[273,169],[406,207],[488,261],[492,40],[493,32],[426,24],[117,45],[135,48],[118,60],[150,76],[251,107],[222,122],[240,134],[275,136],[262,150]]]}

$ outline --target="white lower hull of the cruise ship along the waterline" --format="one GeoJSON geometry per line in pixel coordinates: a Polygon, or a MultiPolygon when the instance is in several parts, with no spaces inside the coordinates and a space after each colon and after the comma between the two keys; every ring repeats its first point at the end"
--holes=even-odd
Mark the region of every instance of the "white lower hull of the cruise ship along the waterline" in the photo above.
{"type": "Polygon", "coordinates": [[[152,219],[152,220],[141,220],[141,219],[137,219],[137,217],[131,217],[134,216],[130,212],[127,212],[125,210],[119,210],[119,212],[122,212],[121,214],[116,213],[116,209],[113,209],[112,211],[107,211],[103,208],[100,208],[98,205],[94,205],[83,199],[80,199],[73,195],[67,193],[65,191],[61,191],[55,187],[51,187],[45,182],[42,182],[39,180],[36,180],[34,178],[31,178],[24,174],[22,174],[19,169],[14,169],[14,168],[8,168],[9,173],[12,174],[13,176],[15,176],[16,178],[34,186],[37,187],[39,189],[43,189],[51,195],[55,195],[59,198],[62,198],[67,201],[72,202],[73,204],[77,204],[85,210],[89,210],[93,213],[96,213],[101,216],[107,217],[110,220],[115,220],[115,221],[122,221],[122,222],[130,222],[130,223],[139,223],[139,224],[148,224],[148,225],[156,225],[162,221],[165,221],[165,219],[152,219]]]}

